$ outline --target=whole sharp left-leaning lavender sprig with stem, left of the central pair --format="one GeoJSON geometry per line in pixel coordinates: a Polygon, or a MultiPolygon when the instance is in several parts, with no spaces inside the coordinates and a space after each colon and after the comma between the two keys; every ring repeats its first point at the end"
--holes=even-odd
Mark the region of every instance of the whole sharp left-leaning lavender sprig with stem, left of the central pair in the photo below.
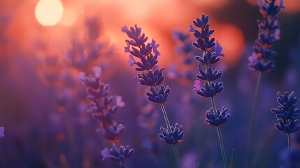
{"type": "Polygon", "coordinates": [[[137,25],[130,27],[130,29],[124,26],[122,27],[122,31],[130,38],[129,40],[126,40],[127,46],[124,50],[124,52],[129,52],[130,54],[128,61],[129,66],[136,64],[136,66],[138,66],[136,67],[136,71],[141,72],[137,74],[135,79],[141,85],[150,86],[150,92],[146,93],[148,99],[151,102],[160,104],[162,108],[166,128],[162,128],[162,134],[159,134],[159,137],[164,140],[166,144],[171,144],[173,146],[176,162],[178,167],[180,167],[178,151],[175,145],[182,142],[180,139],[183,138],[183,129],[172,129],[173,127],[169,122],[166,109],[164,108],[164,102],[166,102],[171,89],[169,86],[164,85],[160,88],[158,87],[164,80],[164,74],[162,73],[164,68],[159,69],[159,66],[157,65],[157,57],[160,55],[160,52],[157,50],[159,44],[157,44],[154,39],[152,39],[151,43],[146,43],[148,37],[141,33],[141,27],[138,27],[137,25]],[[140,60],[136,61],[134,57],[140,60]]]}

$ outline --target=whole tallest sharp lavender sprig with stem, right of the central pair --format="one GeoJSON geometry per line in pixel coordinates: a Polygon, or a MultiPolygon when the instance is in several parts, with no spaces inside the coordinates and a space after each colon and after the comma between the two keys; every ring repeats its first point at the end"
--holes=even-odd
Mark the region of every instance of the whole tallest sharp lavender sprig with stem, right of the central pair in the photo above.
{"type": "Polygon", "coordinates": [[[212,68],[212,65],[219,62],[220,57],[223,57],[224,54],[222,53],[220,43],[215,41],[215,38],[210,38],[210,35],[212,35],[215,30],[210,29],[208,21],[208,15],[202,14],[201,18],[197,18],[193,21],[194,26],[199,30],[190,25],[190,32],[197,38],[197,41],[192,44],[197,49],[203,51],[202,56],[195,56],[195,59],[199,62],[199,74],[197,75],[198,79],[194,82],[194,91],[201,97],[210,97],[212,107],[206,111],[205,121],[208,125],[217,126],[224,167],[228,168],[220,124],[226,123],[230,114],[226,114],[226,108],[222,107],[220,110],[215,106],[214,97],[224,90],[224,86],[222,82],[215,81],[217,78],[220,78],[222,71],[212,68]],[[204,67],[204,69],[202,69],[202,67],[204,67]],[[204,82],[203,86],[201,86],[201,80],[204,82]]]}

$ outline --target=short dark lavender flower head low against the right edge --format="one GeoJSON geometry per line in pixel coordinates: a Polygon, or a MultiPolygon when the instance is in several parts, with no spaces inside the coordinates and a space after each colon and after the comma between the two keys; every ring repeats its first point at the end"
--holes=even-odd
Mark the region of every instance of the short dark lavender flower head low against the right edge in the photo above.
{"type": "Polygon", "coordinates": [[[276,123],[275,127],[278,131],[290,134],[300,130],[300,126],[297,125],[297,116],[300,109],[295,109],[297,99],[294,96],[294,92],[291,92],[291,94],[285,92],[283,95],[280,95],[278,92],[277,102],[280,106],[276,109],[271,109],[272,113],[276,113],[278,123],[276,123]]]}

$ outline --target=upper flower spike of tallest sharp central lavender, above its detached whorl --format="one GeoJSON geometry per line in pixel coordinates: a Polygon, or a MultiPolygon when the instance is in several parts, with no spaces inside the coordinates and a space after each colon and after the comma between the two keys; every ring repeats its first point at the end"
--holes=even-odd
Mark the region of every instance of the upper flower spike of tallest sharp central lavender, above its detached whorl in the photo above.
{"type": "Polygon", "coordinates": [[[209,29],[208,15],[201,15],[201,18],[197,18],[193,23],[200,30],[195,29],[190,25],[190,31],[197,38],[197,42],[193,42],[193,45],[199,50],[203,51],[202,56],[195,56],[195,59],[199,62],[197,80],[194,85],[196,86],[194,91],[201,97],[214,97],[220,94],[224,90],[222,82],[217,82],[217,78],[222,76],[221,70],[213,70],[210,65],[217,63],[220,60],[220,56],[224,56],[222,53],[222,47],[218,41],[215,42],[215,38],[210,38],[215,30],[209,29]],[[205,66],[205,70],[201,68],[205,66]],[[199,80],[203,80],[203,87],[200,86],[199,80]],[[214,82],[212,82],[214,81],[214,82]]]}

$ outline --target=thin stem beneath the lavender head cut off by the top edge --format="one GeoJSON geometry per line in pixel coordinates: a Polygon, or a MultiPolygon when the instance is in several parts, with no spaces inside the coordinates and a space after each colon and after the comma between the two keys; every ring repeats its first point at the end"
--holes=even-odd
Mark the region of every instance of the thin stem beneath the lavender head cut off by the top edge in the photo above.
{"type": "Polygon", "coordinates": [[[252,109],[251,109],[251,117],[250,117],[250,126],[249,126],[249,131],[248,131],[248,143],[247,143],[247,160],[246,160],[246,164],[247,167],[250,167],[250,160],[251,160],[251,142],[252,142],[252,133],[253,133],[253,123],[255,120],[255,113],[257,111],[257,94],[259,91],[259,85],[260,85],[260,80],[262,78],[262,72],[259,71],[258,73],[258,78],[257,78],[257,85],[255,88],[255,96],[254,96],[254,100],[252,103],[252,109]]]}

